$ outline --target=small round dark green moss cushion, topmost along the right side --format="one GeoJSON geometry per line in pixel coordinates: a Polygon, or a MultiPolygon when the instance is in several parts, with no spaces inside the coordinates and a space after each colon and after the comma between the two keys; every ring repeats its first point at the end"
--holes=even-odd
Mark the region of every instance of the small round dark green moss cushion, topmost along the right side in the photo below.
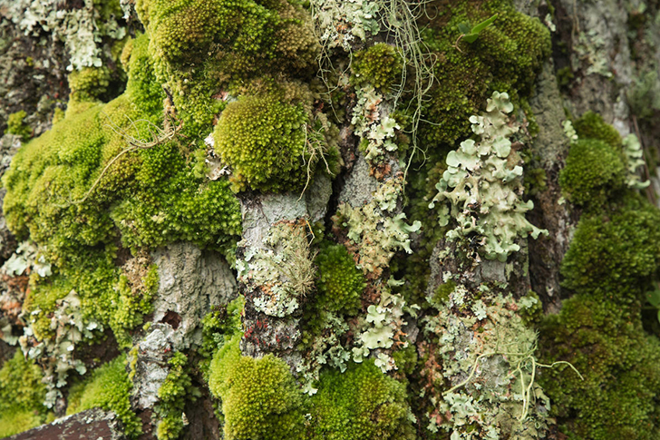
{"type": "Polygon", "coordinates": [[[626,185],[621,153],[597,139],[580,139],[570,147],[559,174],[566,198],[577,205],[599,207],[626,185]]]}

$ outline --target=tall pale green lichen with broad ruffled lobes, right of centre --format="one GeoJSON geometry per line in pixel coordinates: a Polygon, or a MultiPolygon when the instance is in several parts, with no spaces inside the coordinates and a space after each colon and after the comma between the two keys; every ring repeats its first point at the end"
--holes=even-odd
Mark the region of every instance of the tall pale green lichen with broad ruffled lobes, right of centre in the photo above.
{"type": "Polygon", "coordinates": [[[442,202],[440,224],[457,225],[447,232],[448,240],[477,242],[486,259],[506,261],[520,249],[519,238],[548,234],[527,219],[525,212],[534,203],[521,200],[522,160],[511,145],[510,136],[519,125],[510,122],[513,111],[508,93],[492,94],[486,112],[471,116],[472,132],[480,142],[461,142],[447,155],[447,171],[436,185],[438,194],[430,208],[442,202]],[[477,237],[475,240],[474,237],[477,237]]]}

